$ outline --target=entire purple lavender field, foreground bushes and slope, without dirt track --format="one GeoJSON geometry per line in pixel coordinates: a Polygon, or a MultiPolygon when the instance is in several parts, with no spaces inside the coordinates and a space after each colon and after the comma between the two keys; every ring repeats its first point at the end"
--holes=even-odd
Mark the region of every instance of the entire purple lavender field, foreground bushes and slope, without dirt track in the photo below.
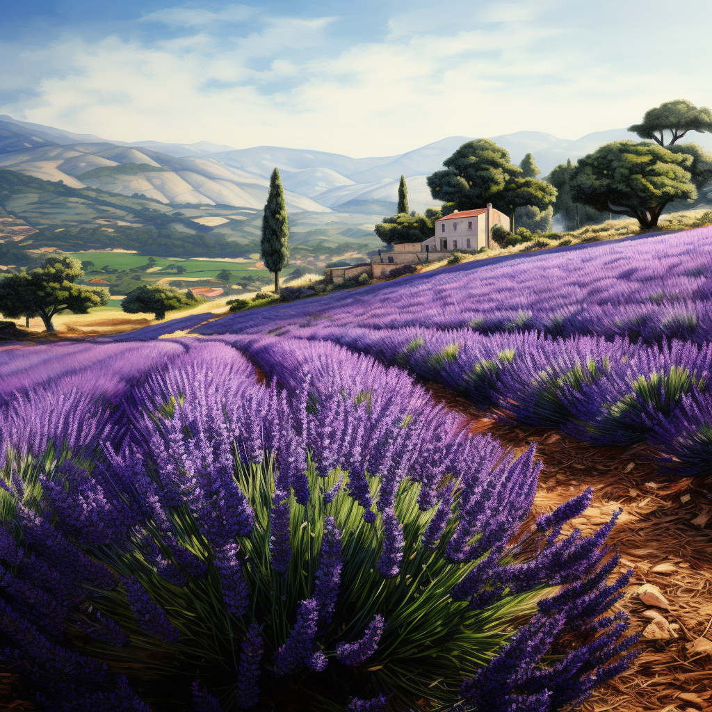
{"type": "Polygon", "coordinates": [[[422,381],[705,477],[711,335],[707,228],[6,347],[1,664],[51,711],[577,705],[638,652],[618,515],[535,518],[535,447],[422,381]]]}

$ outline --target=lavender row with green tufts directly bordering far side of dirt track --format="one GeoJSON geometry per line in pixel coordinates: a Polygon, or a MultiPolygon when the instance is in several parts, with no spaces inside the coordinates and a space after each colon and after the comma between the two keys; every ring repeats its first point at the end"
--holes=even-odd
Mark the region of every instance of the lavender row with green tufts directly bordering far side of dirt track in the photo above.
{"type": "Polygon", "coordinates": [[[706,474],[712,465],[710,344],[645,346],[622,338],[425,328],[320,326],[285,334],[281,338],[323,339],[371,354],[517,422],[561,427],[600,445],[647,441],[681,476],[706,474]]]}

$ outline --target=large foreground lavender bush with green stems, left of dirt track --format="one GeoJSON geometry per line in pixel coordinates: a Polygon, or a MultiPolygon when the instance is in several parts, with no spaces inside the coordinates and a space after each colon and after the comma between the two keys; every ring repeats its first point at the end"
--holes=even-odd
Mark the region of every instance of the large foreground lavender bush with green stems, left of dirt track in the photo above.
{"type": "Polygon", "coordinates": [[[229,340],[5,397],[0,656],[39,706],[550,711],[629,663],[615,518],[561,534],[590,491],[525,530],[533,449],[343,347],[229,340]]]}

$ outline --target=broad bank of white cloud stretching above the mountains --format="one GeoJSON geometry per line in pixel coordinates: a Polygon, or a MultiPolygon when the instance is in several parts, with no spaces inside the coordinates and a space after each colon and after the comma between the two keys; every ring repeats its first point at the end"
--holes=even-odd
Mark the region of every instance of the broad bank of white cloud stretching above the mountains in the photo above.
{"type": "MultiPolygon", "coordinates": [[[[703,62],[681,71],[631,61],[634,41],[644,46],[646,38],[632,37],[622,54],[596,28],[572,16],[528,19],[523,4],[475,8],[467,21],[436,27],[431,11],[416,11],[409,21],[392,19],[384,39],[336,54],[325,49],[330,18],[254,21],[253,31],[218,48],[210,23],[241,7],[154,13],[147,18],[163,13],[162,21],[182,18],[197,31],[153,44],[64,38],[41,51],[58,70],[38,85],[41,98],[2,110],[117,140],[391,155],[449,135],[540,130],[577,138],[639,120],[671,98],[670,87],[709,103],[703,62]]],[[[31,52],[26,59],[38,61],[31,52]]]]}

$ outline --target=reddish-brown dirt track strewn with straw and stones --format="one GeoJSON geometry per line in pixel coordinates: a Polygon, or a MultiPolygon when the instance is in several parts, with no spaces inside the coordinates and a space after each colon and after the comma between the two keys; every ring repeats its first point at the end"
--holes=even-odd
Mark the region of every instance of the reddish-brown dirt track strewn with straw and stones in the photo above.
{"type": "Polygon", "coordinates": [[[646,446],[594,447],[560,431],[509,425],[488,417],[466,399],[436,384],[433,396],[470,419],[470,430],[490,433],[515,451],[537,444],[544,463],[535,515],[580,493],[595,491],[591,508],[573,520],[590,534],[621,508],[609,543],[621,555],[619,570],[634,577],[617,608],[630,614],[631,632],[651,622],[651,607],[637,597],[645,583],[659,587],[670,610],[658,609],[679,637],[641,639],[632,667],[597,689],[585,712],[712,711],[712,655],[691,651],[700,637],[712,640],[712,480],[671,479],[646,461],[646,446]],[[689,497],[688,497],[689,496],[689,497]]]}

